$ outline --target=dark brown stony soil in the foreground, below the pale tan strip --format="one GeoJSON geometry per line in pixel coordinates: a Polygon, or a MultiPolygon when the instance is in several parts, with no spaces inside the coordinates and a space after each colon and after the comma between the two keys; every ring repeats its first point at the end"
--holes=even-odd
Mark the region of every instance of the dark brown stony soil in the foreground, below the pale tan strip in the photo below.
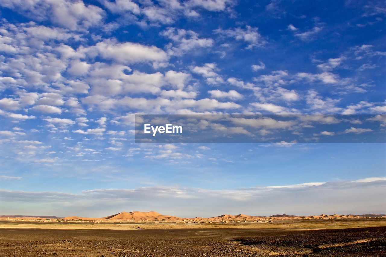
{"type": "MultiPolygon", "coordinates": [[[[333,225],[317,222],[314,227],[333,225]]],[[[386,227],[358,228],[365,220],[355,222],[347,223],[351,228],[317,230],[291,224],[176,229],[138,229],[130,224],[135,226],[132,230],[2,226],[0,256],[386,256],[386,227]]],[[[364,226],[372,223],[366,222],[364,226]]]]}

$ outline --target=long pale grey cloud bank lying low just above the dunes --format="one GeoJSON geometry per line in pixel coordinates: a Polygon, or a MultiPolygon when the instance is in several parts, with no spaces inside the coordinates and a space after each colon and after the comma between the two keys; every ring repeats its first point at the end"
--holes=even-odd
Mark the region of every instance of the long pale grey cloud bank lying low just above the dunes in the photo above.
{"type": "Polygon", "coordinates": [[[179,188],[154,186],[145,188],[89,189],[79,193],[29,192],[0,189],[2,201],[32,203],[30,211],[41,210],[41,203],[50,203],[49,210],[62,210],[64,215],[96,216],[114,213],[119,206],[152,210],[159,206],[160,213],[180,217],[217,216],[222,213],[247,215],[319,215],[320,213],[361,214],[384,213],[384,178],[363,178],[357,181],[305,182],[273,186],[255,186],[234,189],[179,188]],[[339,192],[339,194],[337,194],[339,192]],[[151,196],[151,197],[150,197],[151,196]],[[110,209],[100,212],[100,204],[108,203],[110,209]],[[105,199],[105,200],[103,200],[105,199]],[[134,200],[133,200],[134,199],[134,200]],[[301,199],[301,201],[299,201],[301,199]],[[318,201],[315,201],[318,199],[318,201]],[[87,201],[87,210],[78,207],[87,201]],[[200,202],[199,210],[195,203],[200,202]],[[66,207],[63,208],[63,203],[66,207]],[[70,203],[70,204],[68,204],[70,203]],[[163,207],[166,206],[166,207],[163,207]],[[171,208],[170,206],[178,206],[171,208]],[[256,206],[261,206],[256,212],[256,206]],[[213,213],[216,210],[216,213],[213,213]],[[311,210],[311,212],[310,212],[311,210]],[[98,212],[99,211],[99,212],[98,212]]]}

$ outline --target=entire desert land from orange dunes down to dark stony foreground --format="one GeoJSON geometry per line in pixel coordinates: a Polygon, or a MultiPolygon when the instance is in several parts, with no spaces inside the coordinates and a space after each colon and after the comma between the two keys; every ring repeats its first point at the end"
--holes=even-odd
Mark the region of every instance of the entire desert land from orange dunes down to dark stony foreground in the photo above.
{"type": "Polygon", "coordinates": [[[0,216],[2,256],[384,256],[386,216],[0,216]]]}

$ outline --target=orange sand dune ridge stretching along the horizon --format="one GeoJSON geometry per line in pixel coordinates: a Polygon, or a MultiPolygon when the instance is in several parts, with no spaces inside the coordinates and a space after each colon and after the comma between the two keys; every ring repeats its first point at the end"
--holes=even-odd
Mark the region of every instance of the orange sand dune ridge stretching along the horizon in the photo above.
{"type": "Polygon", "coordinates": [[[383,217],[384,214],[364,214],[364,215],[307,215],[307,216],[299,216],[299,215],[286,215],[286,214],[276,214],[272,216],[251,216],[245,214],[231,215],[231,214],[223,214],[220,216],[203,218],[203,217],[195,217],[195,218],[180,218],[177,216],[171,215],[162,215],[157,213],[156,211],[132,211],[125,212],[122,211],[120,213],[106,216],[106,217],[80,217],[80,216],[67,216],[65,218],[57,218],[56,216],[22,216],[22,215],[0,215],[0,220],[61,220],[61,221],[73,221],[73,220],[83,220],[83,221],[179,221],[179,222],[214,222],[214,221],[258,221],[258,220],[308,220],[308,219],[342,219],[342,218],[377,218],[383,217]],[[48,218],[50,217],[50,218],[48,218]],[[55,217],[55,218],[53,218],[55,217]]]}

